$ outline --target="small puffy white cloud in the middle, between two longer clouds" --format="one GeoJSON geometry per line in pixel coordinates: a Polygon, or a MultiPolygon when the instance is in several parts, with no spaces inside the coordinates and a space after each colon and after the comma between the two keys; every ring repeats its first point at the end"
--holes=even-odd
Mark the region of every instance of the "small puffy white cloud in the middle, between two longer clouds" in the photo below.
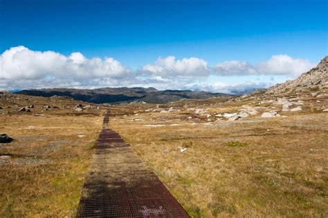
{"type": "Polygon", "coordinates": [[[159,76],[199,77],[208,75],[208,63],[197,57],[176,60],[174,56],[159,57],[154,64],[147,64],[143,72],[159,76]]]}

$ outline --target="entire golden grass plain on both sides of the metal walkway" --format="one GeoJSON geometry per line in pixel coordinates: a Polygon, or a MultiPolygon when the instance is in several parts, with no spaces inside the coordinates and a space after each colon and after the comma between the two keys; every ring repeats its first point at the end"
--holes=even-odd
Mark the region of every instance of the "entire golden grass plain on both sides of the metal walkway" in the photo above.
{"type": "MultiPolygon", "coordinates": [[[[282,117],[237,121],[215,114],[256,102],[126,103],[111,107],[109,126],[192,217],[327,217],[326,100],[304,99],[302,111],[279,111],[282,117]]],[[[0,217],[75,216],[106,109],[78,112],[78,103],[0,98],[0,132],[15,139],[0,145],[0,217]],[[32,103],[31,112],[17,112],[32,103]],[[55,107],[43,110],[46,104],[55,107]]]]}

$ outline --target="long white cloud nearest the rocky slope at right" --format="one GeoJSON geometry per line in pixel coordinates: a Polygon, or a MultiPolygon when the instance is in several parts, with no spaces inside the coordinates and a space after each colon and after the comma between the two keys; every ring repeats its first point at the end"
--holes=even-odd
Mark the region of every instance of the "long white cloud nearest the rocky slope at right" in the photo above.
{"type": "Polygon", "coordinates": [[[246,61],[224,61],[218,63],[212,70],[213,73],[221,76],[288,75],[298,77],[315,66],[316,63],[311,63],[306,59],[293,59],[286,54],[277,54],[255,65],[246,61]]]}

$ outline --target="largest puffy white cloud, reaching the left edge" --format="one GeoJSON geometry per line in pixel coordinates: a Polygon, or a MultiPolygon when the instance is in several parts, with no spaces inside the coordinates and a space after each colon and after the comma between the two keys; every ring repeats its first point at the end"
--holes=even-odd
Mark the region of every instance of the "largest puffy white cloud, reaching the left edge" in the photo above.
{"type": "Polygon", "coordinates": [[[0,79],[122,78],[131,74],[129,68],[111,57],[87,59],[80,52],[73,52],[66,57],[52,51],[29,50],[24,46],[3,52],[0,68],[0,79]]]}

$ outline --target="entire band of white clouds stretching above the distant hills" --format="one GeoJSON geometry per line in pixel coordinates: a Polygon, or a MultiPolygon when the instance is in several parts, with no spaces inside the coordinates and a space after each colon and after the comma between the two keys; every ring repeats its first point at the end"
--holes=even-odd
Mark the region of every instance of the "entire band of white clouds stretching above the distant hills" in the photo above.
{"type": "MultiPolygon", "coordinates": [[[[297,77],[315,64],[278,54],[267,61],[224,61],[210,67],[197,57],[176,59],[159,57],[153,64],[131,70],[111,57],[86,58],[81,52],[69,55],[53,51],[35,51],[24,46],[10,48],[0,54],[0,90],[30,88],[101,88],[155,87],[158,89],[190,89],[238,94],[266,88],[270,79],[259,83],[231,81],[234,85],[206,84],[208,76],[285,75],[297,77]],[[268,81],[268,83],[266,83],[268,81]]],[[[219,77],[215,77],[219,78],[219,77]]]]}

